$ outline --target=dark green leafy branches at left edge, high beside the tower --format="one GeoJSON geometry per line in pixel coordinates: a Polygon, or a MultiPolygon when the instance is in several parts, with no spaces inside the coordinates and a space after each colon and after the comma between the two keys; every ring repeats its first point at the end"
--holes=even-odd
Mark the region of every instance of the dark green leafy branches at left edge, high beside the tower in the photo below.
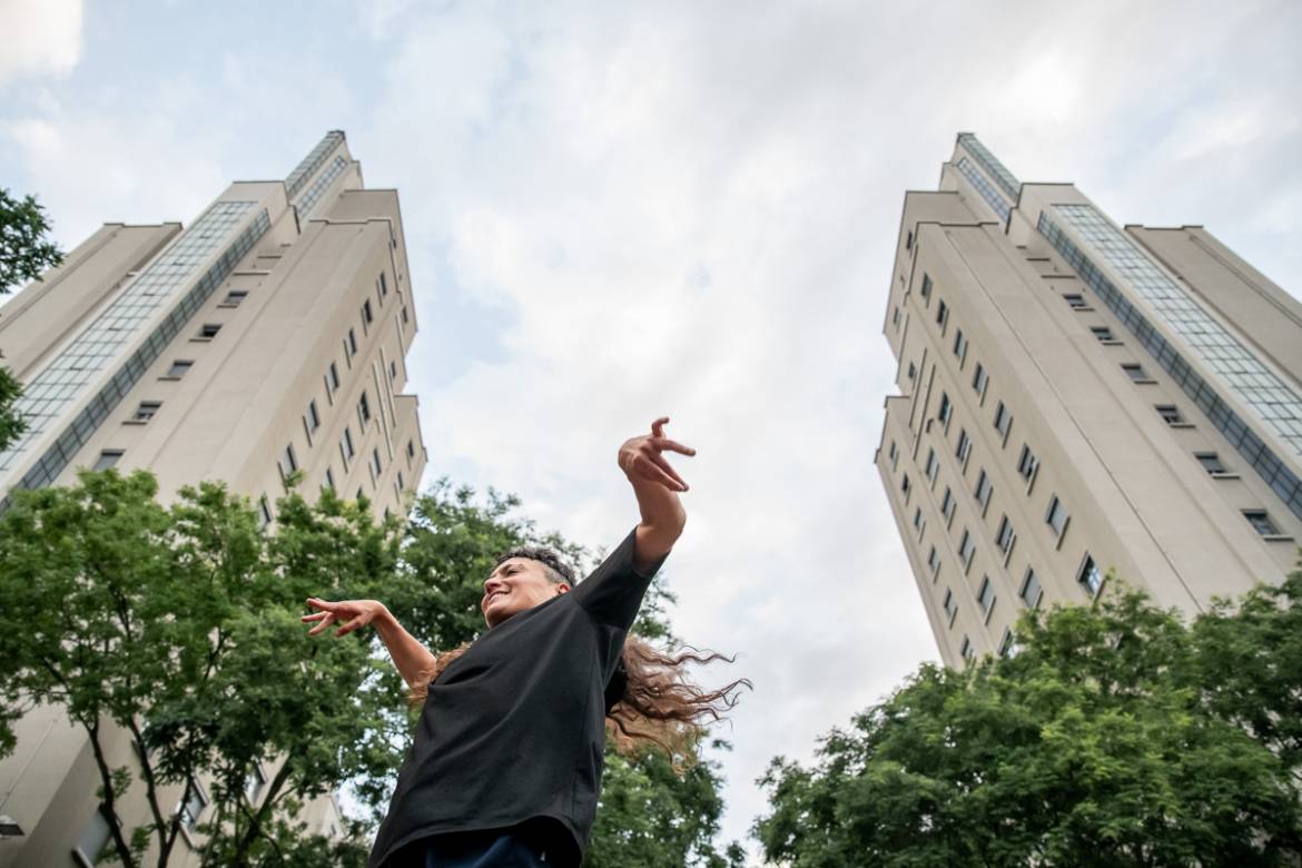
{"type": "MultiPolygon", "coordinates": [[[[64,260],[59,247],[47,239],[49,221],[34,197],[16,199],[0,187],[0,294],[21,282],[39,280],[40,272],[64,260]]],[[[0,367],[0,450],[27,429],[14,402],[22,387],[9,368],[0,367]]]]}

